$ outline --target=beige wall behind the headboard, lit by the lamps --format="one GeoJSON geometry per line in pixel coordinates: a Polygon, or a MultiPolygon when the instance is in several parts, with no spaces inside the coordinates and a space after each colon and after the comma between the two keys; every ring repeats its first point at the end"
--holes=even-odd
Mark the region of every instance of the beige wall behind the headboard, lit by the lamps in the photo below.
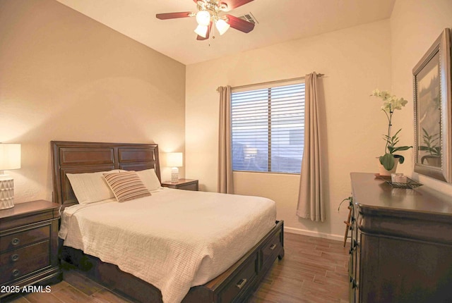
{"type": "Polygon", "coordinates": [[[16,202],[52,199],[50,140],[184,152],[184,65],[52,0],[0,0],[0,29],[0,142],[22,144],[16,202]]]}

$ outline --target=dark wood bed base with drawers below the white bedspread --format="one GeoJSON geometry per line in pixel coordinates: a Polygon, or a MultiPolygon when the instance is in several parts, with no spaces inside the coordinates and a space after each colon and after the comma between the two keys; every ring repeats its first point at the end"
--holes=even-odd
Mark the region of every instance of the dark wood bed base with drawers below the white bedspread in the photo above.
{"type": "MultiPolygon", "coordinates": [[[[183,303],[244,302],[258,287],[273,262],[284,256],[284,222],[276,221],[267,233],[242,259],[210,282],[191,287],[183,303]]],[[[90,278],[138,302],[162,302],[155,286],[124,273],[113,264],[100,261],[81,250],[61,247],[61,260],[77,266],[90,278]]]]}

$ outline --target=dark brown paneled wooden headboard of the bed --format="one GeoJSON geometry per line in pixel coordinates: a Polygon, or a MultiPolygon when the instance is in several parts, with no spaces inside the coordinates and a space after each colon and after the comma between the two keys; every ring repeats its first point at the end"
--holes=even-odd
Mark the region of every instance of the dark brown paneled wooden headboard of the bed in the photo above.
{"type": "Polygon", "coordinates": [[[61,206],[77,204],[66,173],[94,173],[155,168],[160,179],[157,144],[51,141],[53,199],[61,206]]]}

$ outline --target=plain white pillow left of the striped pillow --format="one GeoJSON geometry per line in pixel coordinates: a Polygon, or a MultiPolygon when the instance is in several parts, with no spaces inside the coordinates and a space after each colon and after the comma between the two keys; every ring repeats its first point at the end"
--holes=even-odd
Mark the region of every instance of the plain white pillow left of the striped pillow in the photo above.
{"type": "Polygon", "coordinates": [[[114,194],[104,178],[104,173],[117,173],[114,171],[100,171],[97,173],[66,173],[71,182],[73,193],[76,194],[79,204],[88,204],[105,199],[114,198],[114,194]]]}

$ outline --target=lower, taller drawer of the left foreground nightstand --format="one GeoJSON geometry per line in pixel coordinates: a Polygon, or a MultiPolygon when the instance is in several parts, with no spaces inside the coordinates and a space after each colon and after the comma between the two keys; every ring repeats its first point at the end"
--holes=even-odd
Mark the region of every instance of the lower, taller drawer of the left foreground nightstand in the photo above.
{"type": "Polygon", "coordinates": [[[0,254],[0,283],[14,280],[50,265],[49,240],[0,254]]]}

